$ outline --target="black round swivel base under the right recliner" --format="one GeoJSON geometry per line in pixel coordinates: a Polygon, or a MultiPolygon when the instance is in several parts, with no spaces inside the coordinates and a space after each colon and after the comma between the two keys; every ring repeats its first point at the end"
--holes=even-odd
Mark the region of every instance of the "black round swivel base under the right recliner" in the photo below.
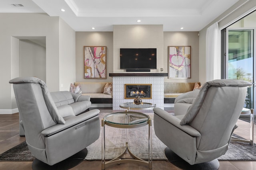
{"type": "Polygon", "coordinates": [[[188,162],[180,158],[168,147],[166,147],[164,152],[169,162],[183,170],[217,170],[220,166],[218,159],[214,159],[210,162],[203,162],[200,164],[190,165],[188,162]]]}

